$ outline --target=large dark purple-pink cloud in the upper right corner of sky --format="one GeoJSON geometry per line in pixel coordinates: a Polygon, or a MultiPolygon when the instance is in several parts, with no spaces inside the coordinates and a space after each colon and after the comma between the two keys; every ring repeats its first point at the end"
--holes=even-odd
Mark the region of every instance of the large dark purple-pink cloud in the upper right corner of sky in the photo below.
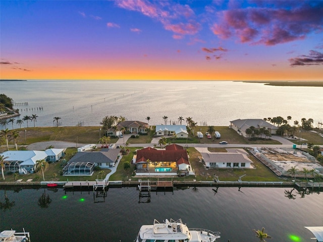
{"type": "Polygon", "coordinates": [[[292,8],[249,7],[219,12],[220,20],[211,30],[222,39],[238,38],[241,43],[267,46],[304,39],[311,32],[322,31],[323,1],[298,3],[301,5],[292,8]]]}

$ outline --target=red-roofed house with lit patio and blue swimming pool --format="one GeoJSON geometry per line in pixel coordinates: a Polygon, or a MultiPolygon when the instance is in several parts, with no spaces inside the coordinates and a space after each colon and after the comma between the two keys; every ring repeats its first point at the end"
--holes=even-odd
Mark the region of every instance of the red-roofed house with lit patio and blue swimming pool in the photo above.
{"type": "Polygon", "coordinates": [[[137,151],[136,168],[140,172],[174,172],[191,171],[186,150],[176,144],[168,145],[165,150],[151,147],[137,151]]]}

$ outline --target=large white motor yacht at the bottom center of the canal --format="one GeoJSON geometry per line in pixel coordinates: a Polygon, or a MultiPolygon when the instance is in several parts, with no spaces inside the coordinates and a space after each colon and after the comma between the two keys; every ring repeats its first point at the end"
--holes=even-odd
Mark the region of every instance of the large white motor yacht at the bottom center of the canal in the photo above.
{"type": "Polygon", "coordinates": [[[181,219],[166,219],[159,223],[154,219],[152,225],[142,225],[135,242],[173,241],[173,242],[214,242],[220,232],[203,228],[188,228],[181,219]]]}

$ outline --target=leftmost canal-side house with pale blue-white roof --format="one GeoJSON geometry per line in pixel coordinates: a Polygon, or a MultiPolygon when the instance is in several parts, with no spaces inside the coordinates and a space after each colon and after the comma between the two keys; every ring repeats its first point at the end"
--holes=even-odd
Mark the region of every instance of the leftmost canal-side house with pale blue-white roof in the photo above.
{"type": "Polygon", "coordinates": [[[64,154],[63,149],[37,150],[9,150],[2,153],[5,159],[5,169],[12,172],[19,171],[19,174],[33,173],[38,160],[50,161],[59,160],[64,154]]]}

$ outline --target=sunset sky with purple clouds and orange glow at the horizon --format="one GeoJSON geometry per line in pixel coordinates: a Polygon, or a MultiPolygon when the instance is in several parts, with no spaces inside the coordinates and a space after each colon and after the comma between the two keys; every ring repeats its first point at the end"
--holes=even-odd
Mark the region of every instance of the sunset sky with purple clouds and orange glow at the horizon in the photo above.
{"type": "Polygon", "coordinates": [[[323,1],[0,1],[0,78],[323,80],[323,1]]]}

